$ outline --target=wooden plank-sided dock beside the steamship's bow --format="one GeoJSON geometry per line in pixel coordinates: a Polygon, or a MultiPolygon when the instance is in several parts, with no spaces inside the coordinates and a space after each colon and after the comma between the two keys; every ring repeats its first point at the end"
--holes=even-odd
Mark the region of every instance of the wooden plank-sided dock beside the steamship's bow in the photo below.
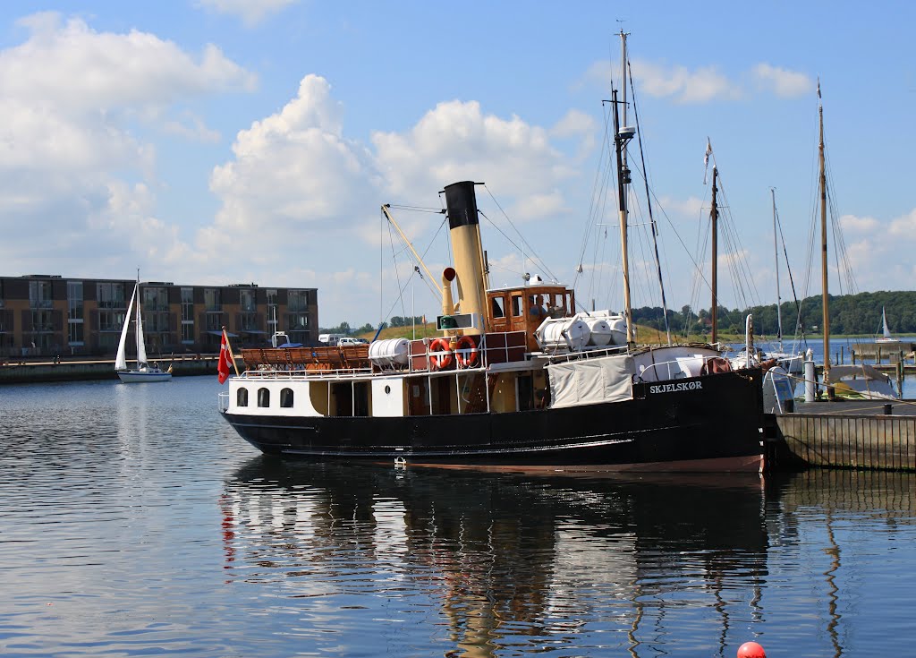
{"type": "Polygon", "coordinates": [[[766,447],[770,470],[916,471],[916,400],[802,402],[771,416],[766,447]]]}

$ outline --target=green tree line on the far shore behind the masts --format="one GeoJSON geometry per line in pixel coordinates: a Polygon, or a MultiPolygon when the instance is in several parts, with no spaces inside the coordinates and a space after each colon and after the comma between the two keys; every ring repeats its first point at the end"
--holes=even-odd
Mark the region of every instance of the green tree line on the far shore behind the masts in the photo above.
{"type": "MultiPolygon", "coordinates": [[[[916,334],[916,291],[860,292],[856,295],[830,295],[831,334],[873,335],[881,331],[881,309],[885,309],[892,334],[916,334]]],[[[749,309],[716,309],[719,331],[744,334],[747,313],[754,316],[754,333],[775,335],[779,326],[776,304],[754,306],[749,309]]],[[[821,296],[808,297],[780,304],[782,334],[816,334],[823,331],[821,296]]],[[[633,309],[636,324],[664,331],[665,322],[660,307],[643,306],[633,309]]],[[[674,334],[703,334],[711,325],[710,312],[683,306],[681,311],[670,310],[668,322],[674,334]]]]}

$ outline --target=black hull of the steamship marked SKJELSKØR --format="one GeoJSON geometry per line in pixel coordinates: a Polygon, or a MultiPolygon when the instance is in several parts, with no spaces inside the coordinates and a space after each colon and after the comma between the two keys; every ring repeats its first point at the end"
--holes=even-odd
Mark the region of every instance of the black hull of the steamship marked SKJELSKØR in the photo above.
{"type": "Polygon", "coordinates": [[[379,417],[224,412],[267,455],[521,471],[762,466],[759,369],[633,385],[633,399],[509,413],[379,417]]]}

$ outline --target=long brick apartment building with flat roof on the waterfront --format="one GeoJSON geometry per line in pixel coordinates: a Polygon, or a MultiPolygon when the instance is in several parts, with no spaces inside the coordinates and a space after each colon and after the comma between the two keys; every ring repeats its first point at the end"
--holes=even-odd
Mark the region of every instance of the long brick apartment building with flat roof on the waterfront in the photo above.
{"type": "MultiPolygon", "coordinates": [[[[0,277],[0,356],[114,355],[135,283],[0,277]]],[[[277,331],[303,345],[318,339],[314,288],[148,281],[140,303],[150,356],[219,351],[222,327],[239,347],[267,345],[277,331]]]]}

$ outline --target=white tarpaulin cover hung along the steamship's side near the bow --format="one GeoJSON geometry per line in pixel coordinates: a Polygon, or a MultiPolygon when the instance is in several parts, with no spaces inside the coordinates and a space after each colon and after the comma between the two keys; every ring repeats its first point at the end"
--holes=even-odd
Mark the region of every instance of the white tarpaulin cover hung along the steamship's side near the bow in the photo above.
{"type": "Polygon", "coordinates": [[[551,407],[633,399],[636,367],[629,355],[603,356],[547,367],[551,378],[551,407]]]}

